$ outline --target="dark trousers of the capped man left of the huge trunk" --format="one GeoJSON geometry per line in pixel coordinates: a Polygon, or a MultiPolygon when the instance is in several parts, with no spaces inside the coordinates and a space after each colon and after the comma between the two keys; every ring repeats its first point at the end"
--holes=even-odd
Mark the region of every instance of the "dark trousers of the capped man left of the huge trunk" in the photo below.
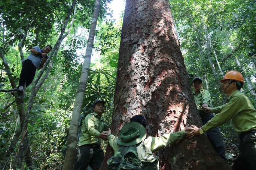
{"type": "Polygon", "coordinates": [[[104,159],[101,148],[82,145],[77,148],[76,164],[74,170],[85,170],[88,165],[92,170],[98,170],[104,159]]]}

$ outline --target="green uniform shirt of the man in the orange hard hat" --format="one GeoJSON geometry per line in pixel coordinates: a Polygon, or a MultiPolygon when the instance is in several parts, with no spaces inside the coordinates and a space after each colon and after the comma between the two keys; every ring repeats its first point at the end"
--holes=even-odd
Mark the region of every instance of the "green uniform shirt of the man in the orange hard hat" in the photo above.
{"type": "Polygon", "coordinates": [[[211,109],[216,114],[209,120],[202,130],[207,131],[213,127],[223,125],[232,119],[232,126],[239,135],[241,132],[247,132],[256,129],[256,110],[249,98],[236,90],[228,98],[229,102],[211,109]]]}

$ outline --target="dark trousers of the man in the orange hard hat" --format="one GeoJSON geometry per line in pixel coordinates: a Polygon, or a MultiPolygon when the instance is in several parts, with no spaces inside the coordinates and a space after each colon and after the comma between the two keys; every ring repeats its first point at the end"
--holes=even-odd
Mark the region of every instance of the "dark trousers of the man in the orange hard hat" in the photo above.
{"type": "Polygon", "coordinates": [[[241,151],[235,160],[233,170],[256,170],[256,133],[247,133],[240,136],[239,150],[241,151]]]}

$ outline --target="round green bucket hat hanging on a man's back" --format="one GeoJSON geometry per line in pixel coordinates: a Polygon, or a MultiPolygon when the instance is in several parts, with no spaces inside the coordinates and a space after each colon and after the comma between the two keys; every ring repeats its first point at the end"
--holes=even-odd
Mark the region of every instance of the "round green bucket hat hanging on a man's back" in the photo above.
{"type": "Polygon", "coordinates": [[[143,141],[146,136],[144,126],[138,122],[129,122],[120,130],[117,143],[122,146],[132,146],[143,141]]]}

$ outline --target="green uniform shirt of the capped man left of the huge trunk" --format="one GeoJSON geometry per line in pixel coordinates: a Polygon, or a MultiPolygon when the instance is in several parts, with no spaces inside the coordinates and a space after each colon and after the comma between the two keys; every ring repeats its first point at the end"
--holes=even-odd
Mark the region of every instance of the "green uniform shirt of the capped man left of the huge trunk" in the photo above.
{"type": "Polygon", "coordinates": [[[100,133],[109,130],[110,125],[103,122],[98,114],[93,112],[88,114],[83,120],[82,133],[79,138],[78,146],[88,144],[101,144],[100,133]]]}

